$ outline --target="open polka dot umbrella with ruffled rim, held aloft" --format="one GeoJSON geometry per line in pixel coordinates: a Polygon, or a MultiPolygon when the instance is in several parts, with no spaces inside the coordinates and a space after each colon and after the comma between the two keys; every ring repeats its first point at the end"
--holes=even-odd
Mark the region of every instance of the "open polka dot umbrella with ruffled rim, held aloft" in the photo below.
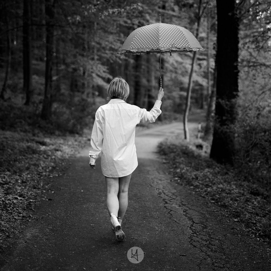
{"type": "Polygon", "coordinates": [[[184,27],[173,24],[145,25],[135,29],[124,41],[118,54],[161,54],[204,51],[195,36],[184,27]]]}

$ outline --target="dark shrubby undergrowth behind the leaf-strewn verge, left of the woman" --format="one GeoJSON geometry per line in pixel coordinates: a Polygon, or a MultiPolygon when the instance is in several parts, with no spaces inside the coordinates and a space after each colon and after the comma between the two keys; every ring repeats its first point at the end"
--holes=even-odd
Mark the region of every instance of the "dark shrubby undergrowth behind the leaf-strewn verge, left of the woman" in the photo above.
{"type": "Polygon", "coordinates": [[[40,120],[41,103],[38,101],[28,107],[22,105],[20,99],[19,102],[0,101],[0,129],[31,133],[43,129],[50,134],[82,134],[84,129],[91,128],[96,109],[102,104],[104,99],[98,99],[93,107],[89,99],[80,96],[66,104],[56,102],[53,117],[47,122],[40,120]]]}

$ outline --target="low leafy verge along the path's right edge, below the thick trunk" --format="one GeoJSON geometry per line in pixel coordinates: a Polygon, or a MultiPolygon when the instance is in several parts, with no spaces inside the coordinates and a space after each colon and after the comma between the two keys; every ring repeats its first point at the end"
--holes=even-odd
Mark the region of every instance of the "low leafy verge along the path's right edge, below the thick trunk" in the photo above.
{"type": "Polygon", "coordinates": [[[249,234],[271,240],[271,193],[242,178],[237,169],[208,157],[209,145],[180,138],[162,141],[158,151],[169,163],[173,181],[227,210],[249,234]]]}

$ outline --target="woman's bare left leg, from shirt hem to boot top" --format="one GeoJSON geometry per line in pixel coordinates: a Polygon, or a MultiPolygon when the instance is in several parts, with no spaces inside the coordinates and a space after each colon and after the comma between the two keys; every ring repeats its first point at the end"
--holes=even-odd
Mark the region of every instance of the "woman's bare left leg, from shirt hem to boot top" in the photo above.
{"type": "Polygon", "coordinates": [[[113,213],[116,217],[118,216],[119,201],[118,201],[118,191],[119,191],[119,178],[110,178],[105,176],[106,191],[107,191],[107,209],[109,216],[113,213]]]}

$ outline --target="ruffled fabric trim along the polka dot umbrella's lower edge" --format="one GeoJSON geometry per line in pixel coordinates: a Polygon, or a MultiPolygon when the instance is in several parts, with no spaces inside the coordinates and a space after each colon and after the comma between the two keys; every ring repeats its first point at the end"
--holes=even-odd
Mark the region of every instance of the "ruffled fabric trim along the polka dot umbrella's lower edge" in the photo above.
{"type": "MultiPolygon", "coordinates": [[[[134,50],[127,50],[127,49],[120,49],[117,54],[161,54],[169,53],[169,48],[166,49],[157,49],[157,48],[146,48],[144,51],[140,51],[140,49],[134,50]]],[[[174,48],[171,50],[171,53],[189,53],[193,51],[205,51],[204,48],[197,48],[197,47],[182,47],[182,48],[174,48]]]]}

